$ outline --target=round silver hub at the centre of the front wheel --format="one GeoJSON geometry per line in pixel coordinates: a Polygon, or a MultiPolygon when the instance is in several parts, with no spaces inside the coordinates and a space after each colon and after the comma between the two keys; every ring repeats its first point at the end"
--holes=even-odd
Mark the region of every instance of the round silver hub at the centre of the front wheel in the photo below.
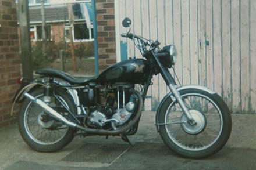
{"type": "Polygon", "coordinates": [[[198,133],[201,133],[204,131],[206,126],[206,119],[204,114],[202,114],[200,111],[197,110],[189,110],[191,116],[195,120],[195,125],[190,125],[187,121],[186,114],[183,114],[180,120],[182,122],[187,121],[186,123],[182,124],[182,128],[185,132],[191,134],[191,135],[197,135],[198,133]]]}

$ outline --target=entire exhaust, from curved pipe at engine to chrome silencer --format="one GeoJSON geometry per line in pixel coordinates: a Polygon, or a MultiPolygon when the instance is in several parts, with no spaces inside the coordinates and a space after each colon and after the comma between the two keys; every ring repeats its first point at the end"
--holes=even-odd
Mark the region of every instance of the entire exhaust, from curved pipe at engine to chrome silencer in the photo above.
{"type": "Polygon", "coordinates": [[[136,122],[140,119],[141,111],[142,111],[142,108],[143,108],[143,99],[142,99],[140,93],[135,91],[134,89],[130,89],[130,93],[133,93],[138,97],[138,110],[137,110],[136,116],[126,126],[121,126],[120,128],[116,128],[113,131],[102,130],[102,129],[84,128],[83,126],[75,124],[74,122],[70,122],[65,117],[63,117],[61,114],[59,114],[57,111],[55,111],[54,109],[49,107],[45,102],[42,102],[42,100],[40,100],[40,99],[36,99],[35,97],[31,96],[29,93],[25,93],[24,96],[27,99],[34,102],[35,104],[37,104],[38,106],[40,106],[41,108],[43,108],[45,111],[47,111],[47,113],[49,113],[49,115],[54,117],[56,120],[59,120],[59,121],[63,122],[64,124],[66,124],[67,126],[69,126],[71,128],[76,128],[76,129],[79,129],[79,130],[84,131],[86,133],[91,133],[91,134],[95,134],[95,135],[119,135],[119,134],[127,131],[133,125],[136,124],[136,122]]]}

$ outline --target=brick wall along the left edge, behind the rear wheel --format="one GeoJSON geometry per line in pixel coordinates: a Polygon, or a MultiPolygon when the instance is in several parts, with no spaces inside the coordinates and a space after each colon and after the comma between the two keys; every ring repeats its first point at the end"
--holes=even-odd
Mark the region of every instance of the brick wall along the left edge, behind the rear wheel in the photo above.
{"type": "Polygon", "coordinates": [[[19,36],[15,0],[0,0],[0,126],[15,120],[10,116],[12,97],[19,87],[19,36]]]}

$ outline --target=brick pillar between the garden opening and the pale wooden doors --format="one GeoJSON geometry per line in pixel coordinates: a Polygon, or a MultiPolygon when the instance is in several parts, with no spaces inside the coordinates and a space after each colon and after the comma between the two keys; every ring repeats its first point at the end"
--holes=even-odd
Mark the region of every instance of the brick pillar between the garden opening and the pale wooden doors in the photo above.
{"type": "Polygon", "coordinates": [[[99,73],[116,63],[114,0],[96,0],[99,73]]]}

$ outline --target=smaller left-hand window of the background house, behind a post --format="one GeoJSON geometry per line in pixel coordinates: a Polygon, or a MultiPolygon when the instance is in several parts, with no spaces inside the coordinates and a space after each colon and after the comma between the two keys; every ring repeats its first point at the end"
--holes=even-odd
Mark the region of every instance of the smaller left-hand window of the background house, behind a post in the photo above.
{"type": "MultiPolygon", "coordinates": [[[[51,26],[46,26],[45,32],[46,32],[46,39],[51,40],[51,26]]],[[[31,38],[31,41],[42,40],[42,26],[31,26],[30,38],[31,38]]]]}

